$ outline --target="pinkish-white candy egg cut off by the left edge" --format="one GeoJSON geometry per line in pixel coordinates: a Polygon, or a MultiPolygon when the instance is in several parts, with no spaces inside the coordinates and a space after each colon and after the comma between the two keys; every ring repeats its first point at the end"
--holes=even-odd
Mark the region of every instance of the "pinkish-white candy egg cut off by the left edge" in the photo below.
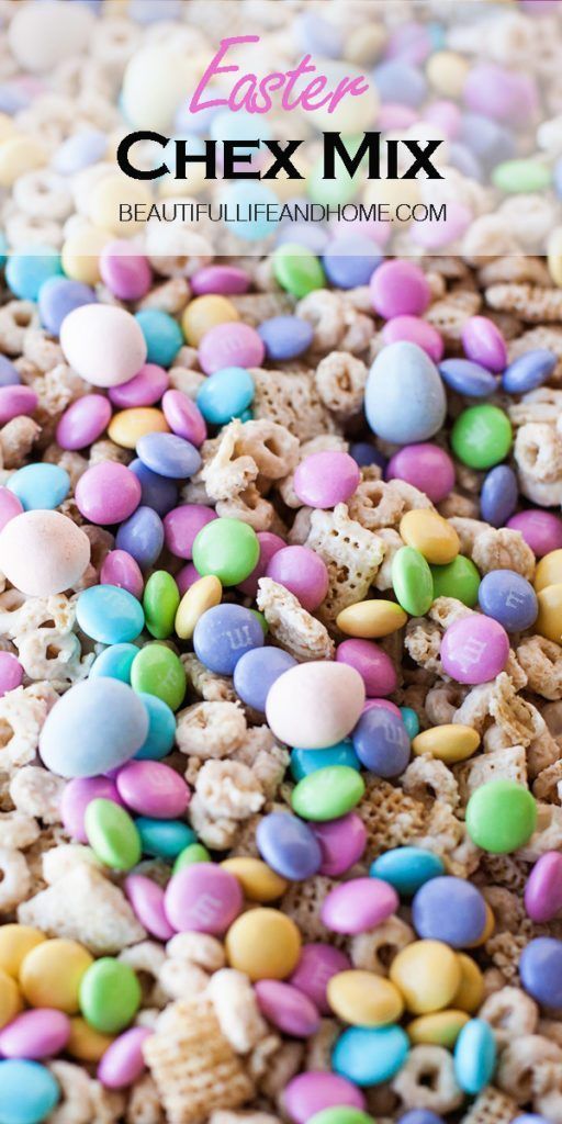
{"type": "Polygon", "coordinates": [[[60,511],[24,511],[0,534],[0,570],[30,597],[70,589],[90,561],[90,540],[60,511]]]}

